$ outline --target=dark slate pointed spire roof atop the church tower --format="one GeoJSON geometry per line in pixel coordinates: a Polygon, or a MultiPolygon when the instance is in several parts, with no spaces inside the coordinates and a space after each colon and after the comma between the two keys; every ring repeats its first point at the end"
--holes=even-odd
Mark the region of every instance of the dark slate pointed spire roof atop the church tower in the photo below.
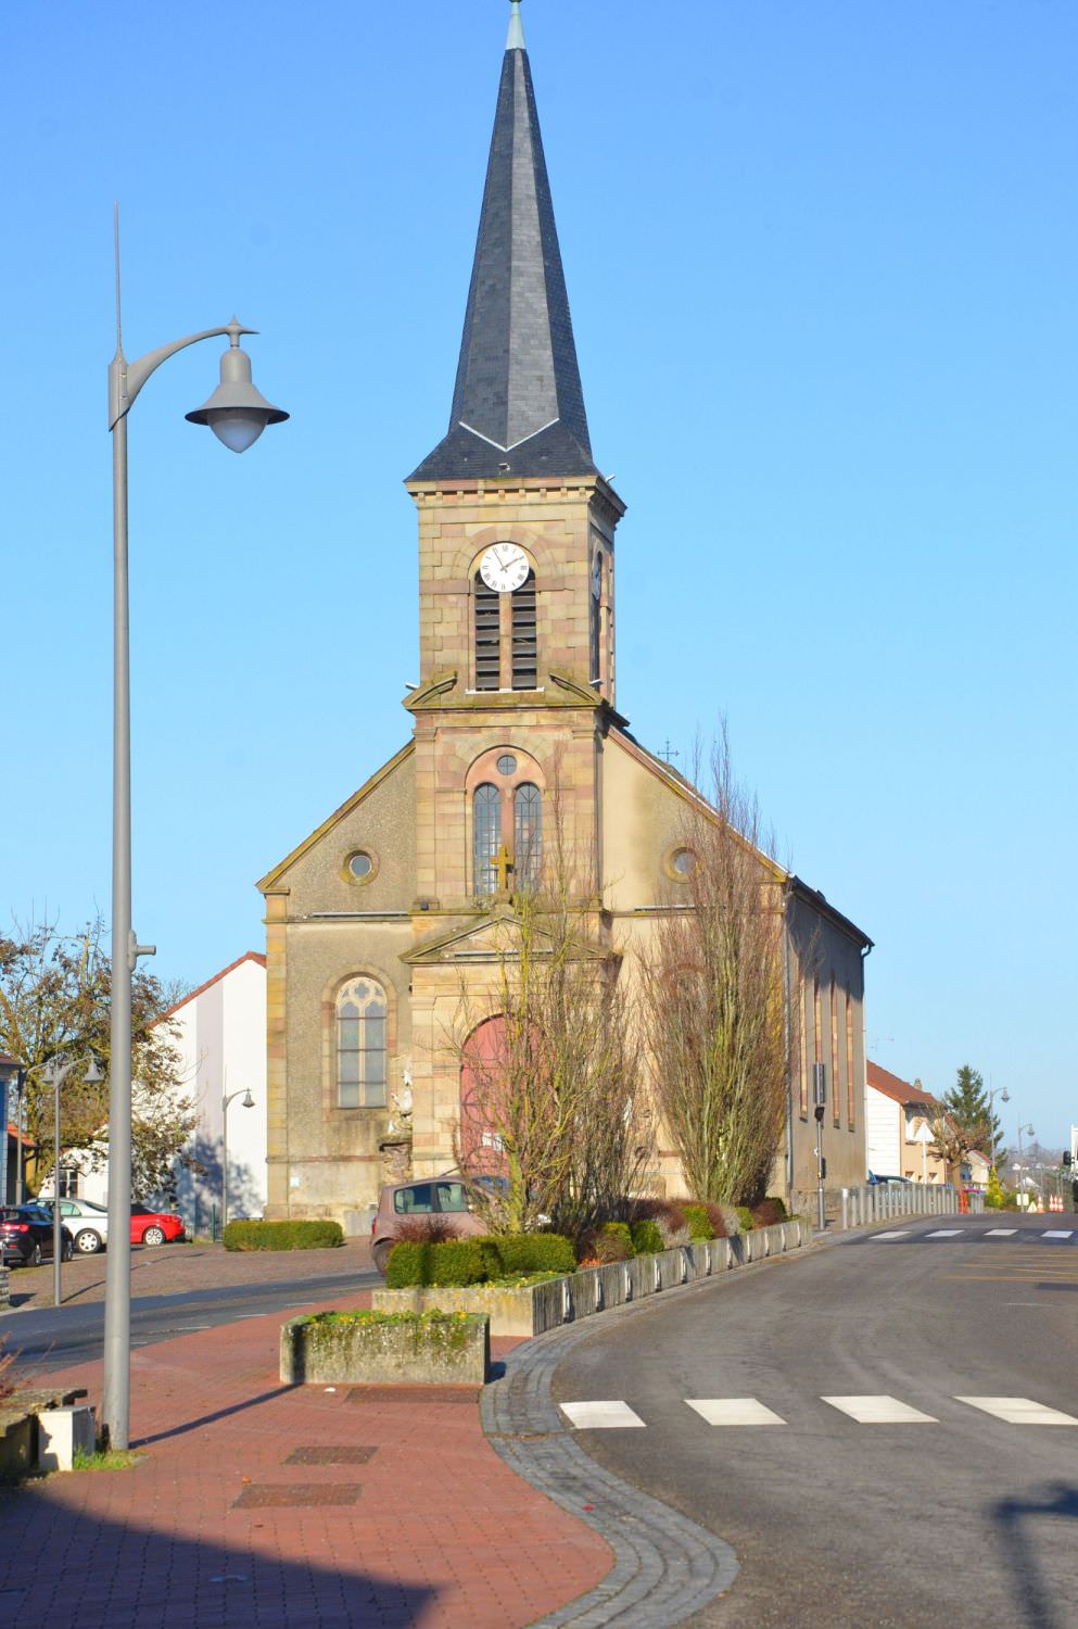
{"type": "Polygon", "coordinates": [[[410,479],[510,472],[598,474],[519,0],[502,64],[449,433],[410,479]]]}

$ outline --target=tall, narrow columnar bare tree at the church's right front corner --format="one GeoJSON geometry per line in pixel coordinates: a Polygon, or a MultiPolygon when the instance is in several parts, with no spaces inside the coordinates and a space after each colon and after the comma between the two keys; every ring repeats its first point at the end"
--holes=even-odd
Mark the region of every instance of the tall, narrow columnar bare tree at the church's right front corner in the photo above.
{"type": "MultiPolygon", "coordinates": [[[[723,725],[710,801],[687,800],[650,948],[642,1012],[655,1096],[699,1199],[754,1204],[782,1140],[796,1013],[783,990],[783,881],[723,725]]],[[[697,779],[700,779],[697,775],[697,779]]]]}

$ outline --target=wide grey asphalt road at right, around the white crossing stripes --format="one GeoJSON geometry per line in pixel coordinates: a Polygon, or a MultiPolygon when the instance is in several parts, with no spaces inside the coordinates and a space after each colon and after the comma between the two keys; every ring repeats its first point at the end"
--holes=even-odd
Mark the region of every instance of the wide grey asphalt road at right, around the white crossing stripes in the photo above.
{"type": "Polygon", "coordinates": [[[905,1236],[840,1236],[596,1319],[554,1393],[629,1404],[643,1429],[581,1429],[585,1451],[734,1546],[739,1577],[699,1629],[1078,1622],[1078,1424],[957,1401],[1078,1416],[1078,1233],[1042,1236],[1068,1227],[894,1222],[905,1236]],[[930,1419],[858,1422],[826,1398],[930,1419]],[[687,1399],[778,1419],[708,1424],[687,1399]]]}

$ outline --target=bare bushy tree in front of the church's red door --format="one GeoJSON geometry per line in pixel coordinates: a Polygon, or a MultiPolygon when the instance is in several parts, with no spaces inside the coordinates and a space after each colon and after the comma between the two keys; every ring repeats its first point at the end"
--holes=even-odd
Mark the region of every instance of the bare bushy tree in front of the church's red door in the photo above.
{"type": "Polygon", "coordinates": [[[549,1217],[578,1238],[624,1212],[653,1144],[620,958],[588,937],[578,878],[593,872],[572,862],[557,798],[552,814],[544,883],[497,914],[489,989],[461,987],[456,1145],[462,1170],[493,1179],[492,1227],[549,1217]]]}

